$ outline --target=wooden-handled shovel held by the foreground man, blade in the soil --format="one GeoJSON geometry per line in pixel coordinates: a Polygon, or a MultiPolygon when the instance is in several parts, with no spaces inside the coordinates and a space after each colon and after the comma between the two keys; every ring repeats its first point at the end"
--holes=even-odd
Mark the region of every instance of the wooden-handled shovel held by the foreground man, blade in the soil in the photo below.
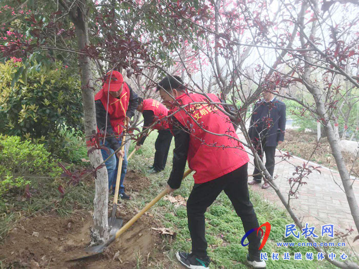
{"type": "MultiPolygon", "coordinates": [[[[184,173],[183,178],[185,178],[189,174],[191,174],[192,171],[193,170],[188,169],[184,173]]],[[[166,194],[167,194],[167,190],[163,190],[160,194],[158,194],[156,196],[156,198],[154,198],[152,201],[150,201],[140,212],[138,212],[132,219],[130,219],[121,229],[119,229],[115,234],[112,234],[111,237],[105,243],[103,243],[101,245],[95,245],[95,246],[87,247],[84,250],[86,254],[83,257],[75,258],[75,259],[72,259],[72,260],[69,260],[69,261],[82,260],[84,258],[92,257],[94,255],[102,253],[106,249],[107,246],[109,246],[120,235],[122,235],[124,232],[126,232],[126,230],[129,229],[129,227],[131,227],[131,225],[133,223],[135,223],[137,219],[139,219],[143,214],[145,214],[145,212],[148,211],[152,207],[152,205],[154,205],[156,202],[158,202],[158,200],[161,199],[162,197],[164,197],[166,194]]]]}

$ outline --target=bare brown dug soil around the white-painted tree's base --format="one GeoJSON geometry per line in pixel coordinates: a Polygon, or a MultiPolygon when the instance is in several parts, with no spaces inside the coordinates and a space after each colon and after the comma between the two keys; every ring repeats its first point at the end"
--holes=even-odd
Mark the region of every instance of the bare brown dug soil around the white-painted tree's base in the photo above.
{"type": "MultiPolygon", "coordinates": [[[[141,192],[149,180],[128,171],[125,186],[128,191],[141,192]]],[[[109,206],[109,213],[112,206],[109,206]]],[[[135,212],[126,203],[117,214],[126,223],[135,212]]],[[[118,217],[118,216],[117,216],[118,217]]],[[[152,215],[144,215],[129,230],[113,242],[104,253],[82,261],[67,262],[78,257],[90,242],[91,212],[77,211],[71,217],[56,214],[36,216],[14,227],[0,246],[0,258],[12,268],[133,268],[137,260],[141,267],[153,259],[163,259],[162,239],[151,227],[162,227],[152,215]],[[117,253],[117,254],[116,254],[117,253]]],[[[80,255],[81,257],[81,255],[80,255]]]]}

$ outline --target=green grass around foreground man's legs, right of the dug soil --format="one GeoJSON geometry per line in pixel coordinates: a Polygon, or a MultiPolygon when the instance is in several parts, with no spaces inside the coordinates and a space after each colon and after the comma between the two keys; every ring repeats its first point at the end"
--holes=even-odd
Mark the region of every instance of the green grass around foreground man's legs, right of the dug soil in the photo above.
{"type": "MultiPolygon", "coordinates": [[[[129,161],[129,169],[142,171],[151,180],[151,184],[145,192],[141,193],[141,197],[136,197],[128,202],[128,206],[133,208],[142,208],[147,202],[155,197],[167,185],[167,179],[170,174],[172,165],[172,150],[174,142],[172,141],[169,152],[166,169],[158,174],[148,174],[147,167],[153,163],[154,141],[157,132],[152,132],[146,139],[144,146],[135,153],[129,161]]],[[[131,145],[129,152],[133,149],[131,145]]],[[[174,192],[175,195],[188,197],[193,187],[193,177],[188,176],[183,180],[181,188],[174,192]]],[[[302,237],[300,240],[294,237],[284,238],[285,225],[293,223],[286,211],[279,209],[275,204],[269,203],[261,197],[260,194],[250,192],[251,201],[254,205],[260,224],[271,223],[271,233],[269,239],[262,250],[267,252],[268,256],[272,252],[280,254],[279,261],[267,261],[267,268],[334,268],[327,261],[315,261],[316,251],[312,247],[277,247],[276,242],[306,242],[302,237]],[[290,261],[283,260],[283,253],[289,252],[290,261]],[[294,260],[294,253],[301,252],[304,257],[302,261],[294,260]],[[314,261],[305,260],[305,253],[313,252],[314,261]]],[[[175,258],[178,250],[191,251],[190,235],[187,227],[187,212],[185,206],[175,207],[174,204],[166,200],[160,200],[150,210],[157,219],[159,219],[165,227],[172,227],[177,236],[171,242],[165,241],[164,254],[166,255],[170,268],[181,268],[175,258]]],[[[217,200],[210,206],[206,214],[206,239],[208,241],[208,255],[211,258],[210,268],[247,268],[246,254],[247,247],[241,245],[241,239],[244,236],[242,221],[234,212],[233,206],[228,197],[222,192],[217,200]]],[[[247,241],[247,240],[246,240],[247,241]]],[[[316,240],[320,242],[321,240],[316,240]]],[[[323,240],[324,241],[324,240],[323,240]]],[[[337,257],[344,250],[336,250],[337,257]],[[340,252],[339,252],[340,251],[340,252]]],[[[152,266],[153,268],[168,267],[159,261],[152,266]]]]}

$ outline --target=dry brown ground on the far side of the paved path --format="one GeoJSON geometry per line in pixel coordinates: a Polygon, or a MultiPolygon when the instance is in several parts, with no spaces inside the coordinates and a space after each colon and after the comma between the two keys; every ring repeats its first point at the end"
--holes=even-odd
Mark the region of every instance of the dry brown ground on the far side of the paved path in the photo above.
{"type": "MultiPolygon", "coordinates": [[[[337,170],[334,156],[331,154],[328,139],[322,138],[316,142],[316,133],[298,132],[286,130],[285,141],[277,147],[280,150],[289,151],[290,154],[310,160],[326,167],[337,170]],[[314,151],[314,153],[313,153],[314,151]]],[[[342,152],[348,171],[352,169],[352,175],[359,175],[359,160],[348,152],[342,152]]]]}

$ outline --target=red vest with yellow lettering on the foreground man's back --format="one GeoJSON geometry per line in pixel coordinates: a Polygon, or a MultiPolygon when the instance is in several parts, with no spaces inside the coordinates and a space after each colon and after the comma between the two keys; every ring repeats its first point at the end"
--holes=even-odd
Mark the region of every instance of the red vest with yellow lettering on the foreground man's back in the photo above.
{"type": "MultiPolygon", "coordinates": [[[[208,96],[212,102],[221,102],[214,94],[208,96]]],[[[182,107],[193,102],[208,103],[209,100],[201,94],[184,93],[176,101],[182,107]]],[[[243,144],[231,138],[238,139],[238,136],[227,115],[208,104],[191,104],[184,109],[178,106],[169,114],[177,111],[174,117],[190,132],[187,160],[189,168],[195,171],[194,183],[216,179],[249,161],[243,144]]]]}

